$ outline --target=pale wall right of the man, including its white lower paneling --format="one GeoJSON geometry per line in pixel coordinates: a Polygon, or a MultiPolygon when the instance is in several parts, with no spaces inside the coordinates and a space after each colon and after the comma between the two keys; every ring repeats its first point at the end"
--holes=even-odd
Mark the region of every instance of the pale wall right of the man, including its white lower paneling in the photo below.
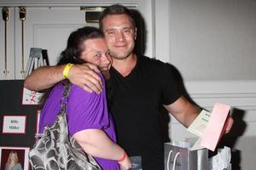
{"type": "MultiPolygon", "coordinates": [[[[232,106],[232,169],[255,169],[256,2],[161,0],[155,8],[155,57],[175,65],[201,107],[232,106]]],[[[191,137],[173,117],[169,135],[191,137]]]]}

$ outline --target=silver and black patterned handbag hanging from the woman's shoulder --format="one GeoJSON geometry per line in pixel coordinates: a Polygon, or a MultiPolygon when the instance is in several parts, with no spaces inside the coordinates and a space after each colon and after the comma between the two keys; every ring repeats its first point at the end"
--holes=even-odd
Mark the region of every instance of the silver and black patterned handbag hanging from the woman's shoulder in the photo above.
{"type": "Polygon", "coordinates": [[[31,167],[34,170],[102,169],[68,133],[66,105],[70,84],[70,82],[66,84],[61,99],[61,111],[55,123],[44,127],[41,138],[28,153],[31,167]]]}

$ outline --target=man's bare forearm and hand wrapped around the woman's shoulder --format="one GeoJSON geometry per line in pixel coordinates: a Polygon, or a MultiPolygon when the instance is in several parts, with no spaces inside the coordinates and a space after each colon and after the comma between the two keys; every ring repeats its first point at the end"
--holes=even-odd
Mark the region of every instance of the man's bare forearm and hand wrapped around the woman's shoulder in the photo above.
{"type": "MultiPolygon", "coordinates": [[[[50,88],[57,82],[61,82],[65,65],[39,67],[32,74],[26,77],[24,87],[34,91],[41,91],[50,88]]],[[[102,79],[98,76],[96,65],[84,64],[73,65],[68,71],[67,78],[73,84],[88,92],[102,92],[102,79]]]]}

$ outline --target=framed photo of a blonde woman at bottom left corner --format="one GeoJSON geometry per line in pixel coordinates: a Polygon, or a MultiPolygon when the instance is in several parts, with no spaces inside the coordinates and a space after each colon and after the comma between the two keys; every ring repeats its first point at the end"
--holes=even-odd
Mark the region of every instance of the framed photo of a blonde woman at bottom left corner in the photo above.
{"type": "Polygon", "coordinates": [[[20,169],[19,167],[21,167],[22,170],[28,170],[28,152],[29,147],[0,146],[0,170],[5,170],[10,161],[16,163],[15,169],[20,169]]]}

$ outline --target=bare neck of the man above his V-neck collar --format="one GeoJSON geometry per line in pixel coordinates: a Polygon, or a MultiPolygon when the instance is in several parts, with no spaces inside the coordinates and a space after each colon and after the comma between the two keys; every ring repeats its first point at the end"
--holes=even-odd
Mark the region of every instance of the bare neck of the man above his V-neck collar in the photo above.
{"type": "Polygon", "coordinates": [[[137,63],[137,55],[131,54],[131,56],[125,59],[114,59],[113,58],[113,68],[123,76],[126,77],[130,74],[137,63]]]}

